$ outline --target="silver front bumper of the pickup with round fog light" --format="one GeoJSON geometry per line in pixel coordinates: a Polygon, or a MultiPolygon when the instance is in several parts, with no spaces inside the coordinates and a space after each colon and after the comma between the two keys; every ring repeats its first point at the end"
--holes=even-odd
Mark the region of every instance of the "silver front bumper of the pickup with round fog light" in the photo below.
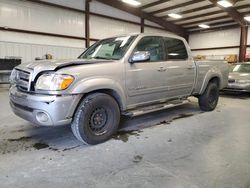
{"type": "Polygon", "coordinates": [[[40,95],[10,88],[10,106],[13,112],[36,125],[68,125],[82,95],[40,95]]]}

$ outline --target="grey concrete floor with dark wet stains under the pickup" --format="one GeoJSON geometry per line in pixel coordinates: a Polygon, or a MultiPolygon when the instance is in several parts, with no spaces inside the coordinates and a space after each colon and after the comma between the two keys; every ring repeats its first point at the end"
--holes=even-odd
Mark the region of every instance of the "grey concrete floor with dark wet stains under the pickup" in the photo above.
{"type": "Polygon", "coordinates": [[[250,188],[250,96],[223,95],[217,109],[190,104],[133,119],[97,146],[69,127],[38,128],[0,90],[0,187],[250,188]],[[132,131],[137,130],[137,131],[132,131]]]}

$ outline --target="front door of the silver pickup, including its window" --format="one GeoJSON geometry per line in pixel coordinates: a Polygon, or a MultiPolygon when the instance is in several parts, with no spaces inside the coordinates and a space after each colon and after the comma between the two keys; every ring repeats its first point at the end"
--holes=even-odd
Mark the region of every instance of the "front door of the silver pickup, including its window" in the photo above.
{"type": "Polygon", "coordinates": [[[164,44],[162,37],[143,37],[134,49],[148,51],[150,60],[126,63],[126,88],[129,105],[142,105],[166,97],[164,44]]]}

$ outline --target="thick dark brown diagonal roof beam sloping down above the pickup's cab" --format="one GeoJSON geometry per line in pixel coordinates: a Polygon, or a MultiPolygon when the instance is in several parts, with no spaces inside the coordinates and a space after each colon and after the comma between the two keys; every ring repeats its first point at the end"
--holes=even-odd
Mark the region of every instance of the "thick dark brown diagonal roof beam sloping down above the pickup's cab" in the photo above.
{"type": "Polygon", "coordinates": [[[96,0],[96,1],[103,3],[103,4],[106,4],[106,5],[109,5],[111,7],[120,9],[120,10],[125,11],[127,13],[130,13],[132,15],[144,18],[144,19],[149,20],[151,22],[154,22],[154,23],[162,26],[167,31],[176,33],[176,34],[181,35],[181,36],[187,35],[186,30],[184,28],[182,28],[181,26],[175,25],[175,24],[168,22],[164,19],[155,17],[149,13],[145,13],[142,10],[140,10],[139,8],[131,7],[125,3],[122,3],[121,1],[114,1],[114,0],[96,0]]]}

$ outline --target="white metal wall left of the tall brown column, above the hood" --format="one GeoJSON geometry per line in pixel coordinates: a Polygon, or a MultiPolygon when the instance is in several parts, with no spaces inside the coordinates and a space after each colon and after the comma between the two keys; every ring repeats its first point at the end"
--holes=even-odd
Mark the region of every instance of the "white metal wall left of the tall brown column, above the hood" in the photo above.
{"type": "MultiPolygon", "coordinates": [[[[84,14],[74,11],[25,1],[0,0],[0,15],[1,27],[76,37],[85,34],[84,14]]],[[[76,58],[84,48],[84,40],[0,31],[0,58],[21,57],[22,62],[26,62],[46,53],[54,58],[76,58]]]]}

